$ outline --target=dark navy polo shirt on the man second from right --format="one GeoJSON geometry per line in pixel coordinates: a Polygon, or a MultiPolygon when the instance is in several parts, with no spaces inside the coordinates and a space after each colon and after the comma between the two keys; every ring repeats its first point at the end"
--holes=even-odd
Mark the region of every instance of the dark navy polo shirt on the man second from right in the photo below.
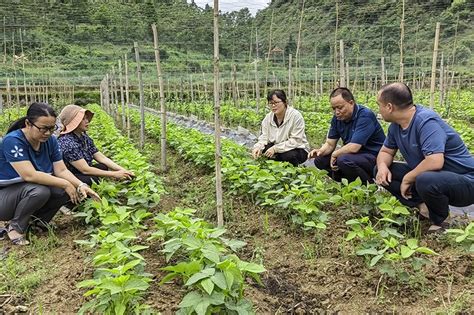
{"type": "Polygon", "coordinates": [[[385,140],[385,134],[375,114],[367,107],[356,104],[349,121],[332,117],[328,138],[336,140],[341,138],[344,145],[360,144],[362,146],[360,153],[377,156],[385,140]]]}

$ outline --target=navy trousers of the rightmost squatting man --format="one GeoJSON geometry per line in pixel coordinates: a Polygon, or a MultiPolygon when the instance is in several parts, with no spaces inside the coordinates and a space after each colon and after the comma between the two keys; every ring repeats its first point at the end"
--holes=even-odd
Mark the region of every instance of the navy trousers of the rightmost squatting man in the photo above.
{"type": "Polygon", "coordinates": [[[403,177],[410,171],[406,163],[392,163],[392,182],[384,187],[405,206],[416,207],[424,202],[434,224],[440,225],[446,220],[449,205],[465,207],[474,204],[474,179],[448,171],[428,171],[418,175],[411,187],[412,197],[403,198],[400,186],[403,177]]]}

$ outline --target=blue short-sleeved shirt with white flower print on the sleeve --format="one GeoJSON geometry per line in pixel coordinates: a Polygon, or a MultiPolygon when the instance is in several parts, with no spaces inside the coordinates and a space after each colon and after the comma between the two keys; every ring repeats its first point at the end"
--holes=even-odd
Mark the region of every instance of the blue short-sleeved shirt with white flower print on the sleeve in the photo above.
{"type": "Polygon", "coordinates": [[[53,174],[53,163],[61,159],[56,137],[42,142],[35,151],[21,129],[12,131],[0,141],[0,187],[24,181],[10,163],[30,161],[37,171],[53,174]]]}

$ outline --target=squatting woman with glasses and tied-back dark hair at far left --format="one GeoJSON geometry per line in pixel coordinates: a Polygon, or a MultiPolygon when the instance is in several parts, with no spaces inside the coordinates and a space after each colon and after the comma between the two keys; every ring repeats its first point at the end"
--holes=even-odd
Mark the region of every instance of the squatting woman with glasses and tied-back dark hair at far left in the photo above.
{"type": "Polygon", "coordinates": [[[0,229],[15,245],[27,245],[33,219],[47,228],[59,208],[86,196],[99,198],[64,165],[56,137],[56,114],[45,103],[33,103],[26,117],[14,122],[0,143],[0,229]]]}

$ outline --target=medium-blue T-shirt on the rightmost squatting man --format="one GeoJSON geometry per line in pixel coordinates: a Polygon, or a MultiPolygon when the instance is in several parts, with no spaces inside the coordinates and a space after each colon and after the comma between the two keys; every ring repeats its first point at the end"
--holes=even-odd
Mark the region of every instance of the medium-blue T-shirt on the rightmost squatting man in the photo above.
{"type": "Polygon", "coordinates": [[[425,156],[444,153],[442,170],[466,174],[474,179],[474,157],[459,134],[434,111],[416,105],[415,114],[406,129],[392,123],[384,146],[399,149],[411,169],[425,156]]]}

